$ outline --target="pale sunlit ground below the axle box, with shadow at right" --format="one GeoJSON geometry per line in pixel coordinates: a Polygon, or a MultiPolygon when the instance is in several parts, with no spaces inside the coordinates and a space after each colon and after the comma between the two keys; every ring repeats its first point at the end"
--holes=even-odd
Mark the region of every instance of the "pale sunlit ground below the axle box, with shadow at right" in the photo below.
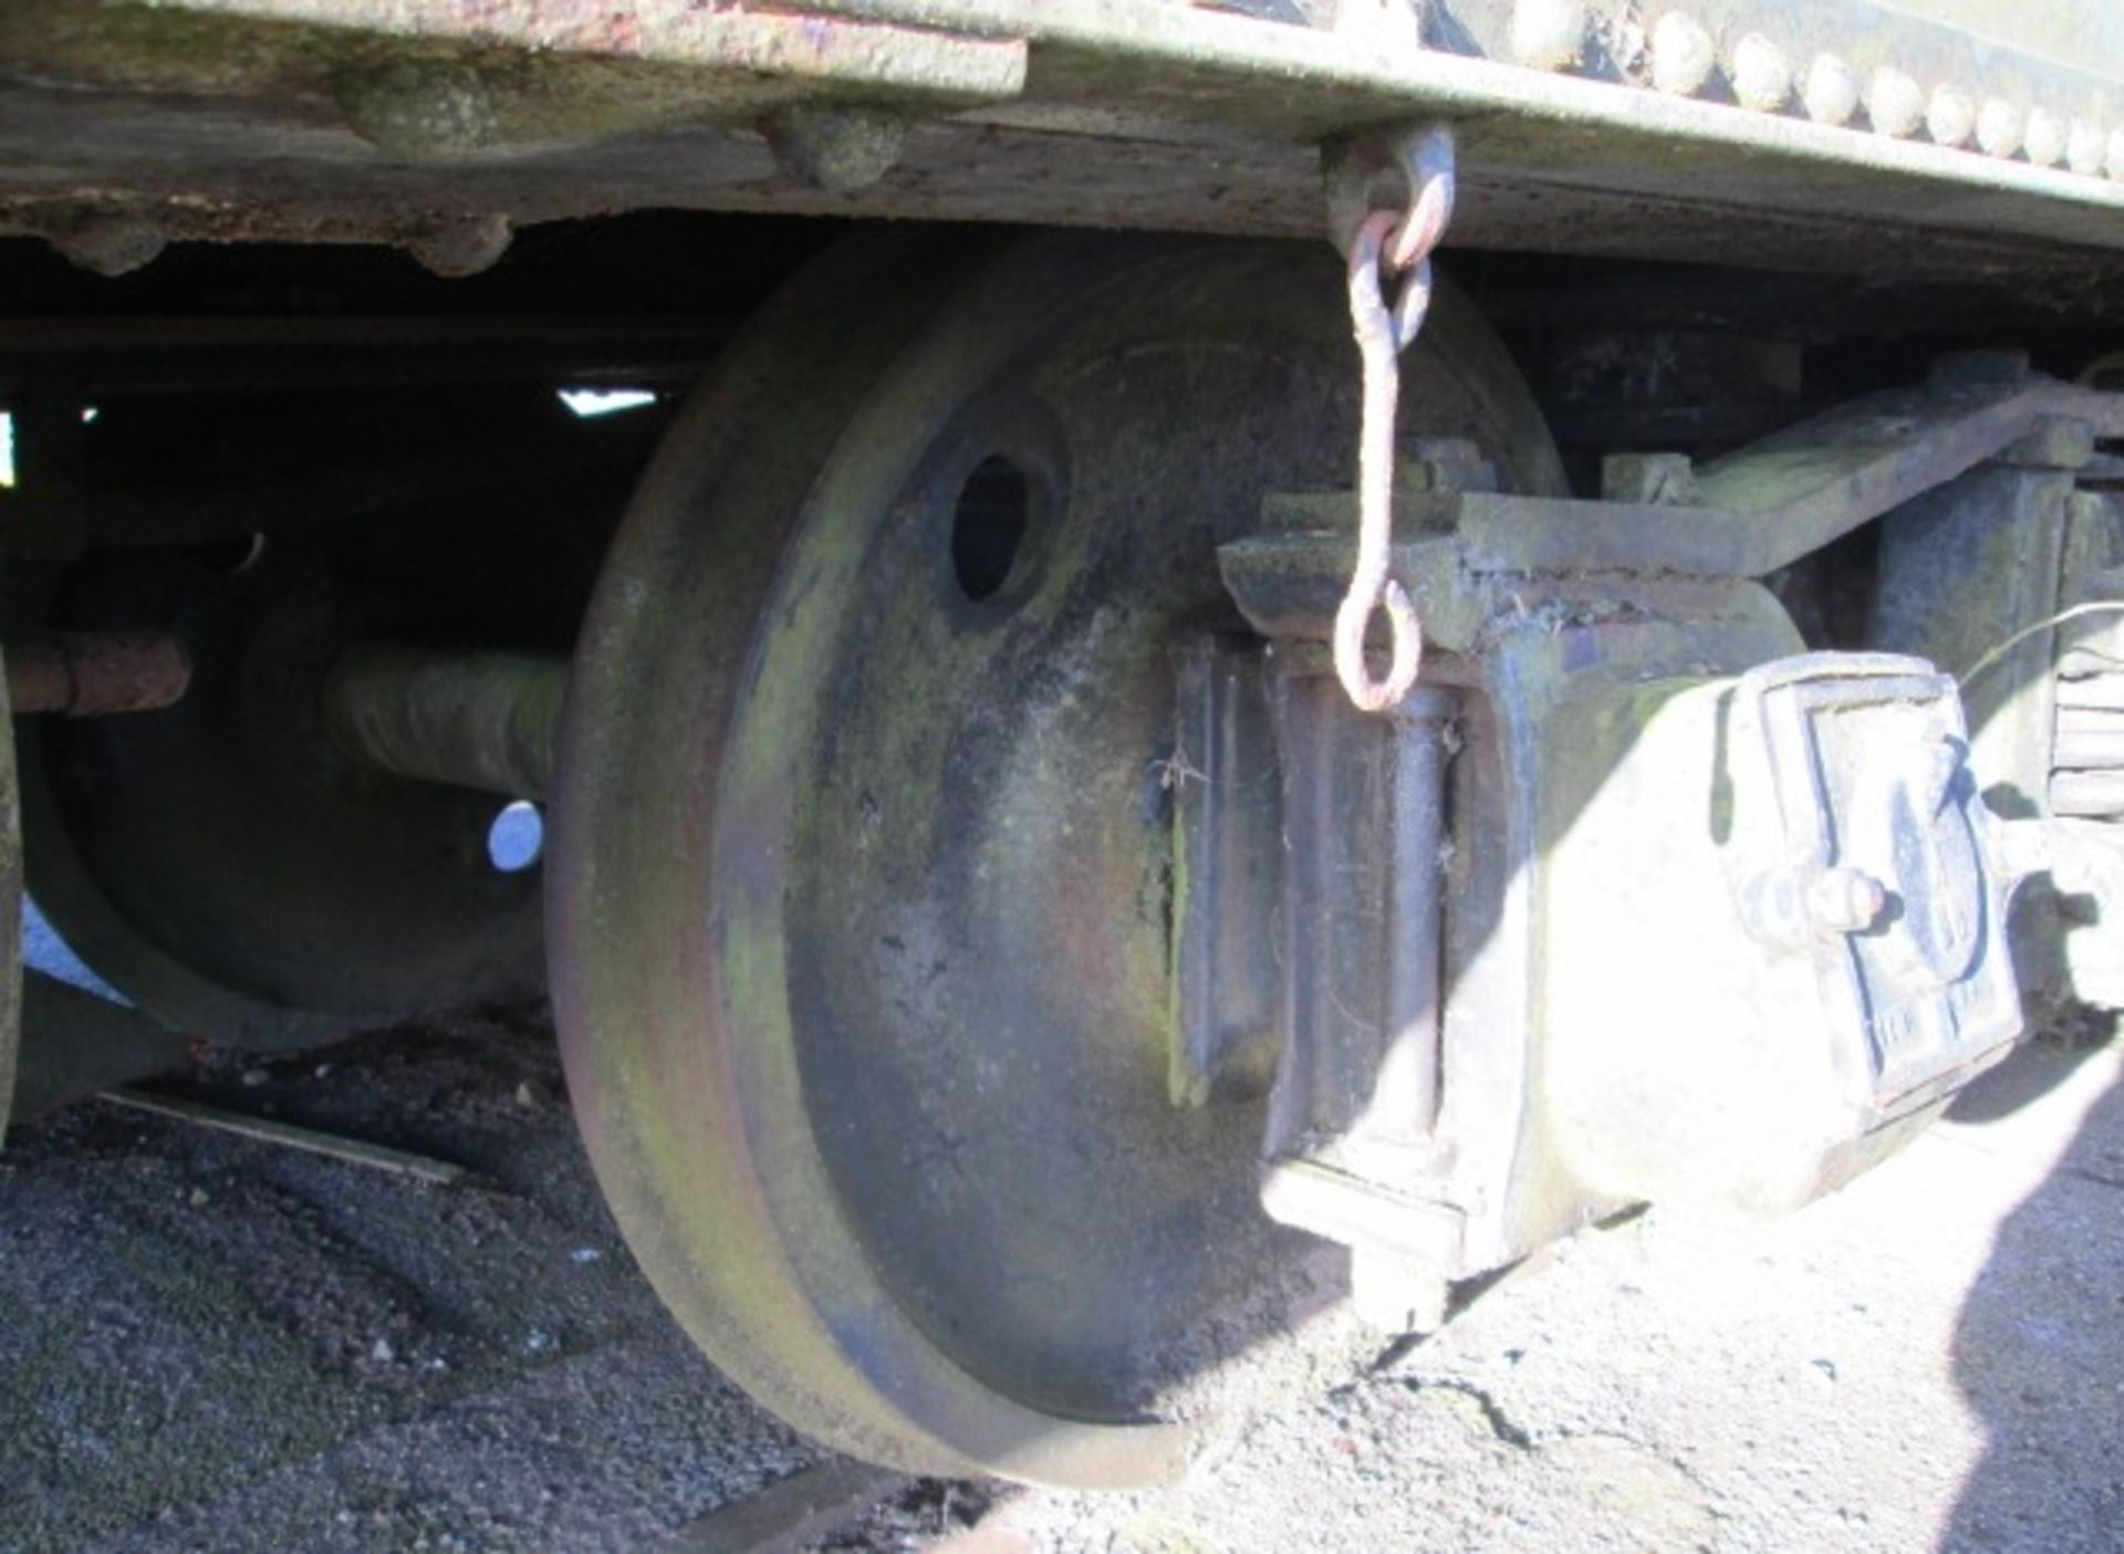
{"type": "Polygon", "coordinates": [[[2124,1550],[2124,1061],[2022,1049],[1801,1214],[1657,1210],[1134,1505],[1026,1543],[2124,1550]]]}

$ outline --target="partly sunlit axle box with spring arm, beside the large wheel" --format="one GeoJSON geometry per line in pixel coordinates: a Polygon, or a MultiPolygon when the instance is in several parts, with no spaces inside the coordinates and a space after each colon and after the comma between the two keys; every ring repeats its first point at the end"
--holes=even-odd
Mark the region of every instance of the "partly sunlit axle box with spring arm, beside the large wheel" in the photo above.
{"type": "MultiPolygon", "coordinates": [[[[1451,1278],[1631,1197],[1803,1202],[1992,1061],[2020,1021],[1997,947],[2026,862],[2005,858],[1977,775],[2007,766],[1971,758],[1952,679],[1909,658],[1801,656],[1752,577],[1890,512],[1994,484],[2071,490],[2120,433],[2124,397],[2018,359],[1950,359],[1920,388],[1701,471],[1610,482],[1657,501],[1510,497],[1472,471],[1404,482],[1389,571],[1434,658],[1385,720],[1353,715],[1325,677],[1357,499],[1270,497],[1264,531],[1219,550],[1272,643],[1285,783],[1279,911],[1264,913],[1283,938],[1268,1212],[1351,1244],[1353,1274],[1451,1278]],[[1440,694],[1451,737],[1412,737],[1440,694]],[[1400,802],[1404,779],[1438,788],[1425,760],[1440,749],[1459,752],[1444,824],[1429,800],[1400,802]],[[1699,805],[1701,824],[1669,824],[1699,805]],[[1442,934],[1423,915],[1438,902],[1442,934]],[[1559,921],[1572,930],[1548,932],[1559,921]],[[1686,972],[1623,974],[1663,989],[1644,1021],[1657,1055],[1604,1047],[1597,1008],[1646,945],[1689,945],[1686,972]],[[1733,1017],[1697,1013],[1720,1006],[1733,1017]],[[1810,1021],[1835,1064],[1706,1038],[1750,1021],[1810,1021]],[[1519,1032],[1510,1061],[1497,1032],[1519,1032]],[[1395,1061],[1404,1038],[1412,1061],[1395,1061]],[[1553,1166],[1576,1199],[1542,1176],[1553,1166]]],[[[1185,841],[1219,892],[1202,921],[1223,949],[1260,887],[1219,843],[1262,819],[1202,798],[1189,815],[1209,834],[1185,841]]],[[[1245,1030],[1194,1032],[1189,1057],[1223,1057],[1200,1089],[1240,1076],[1245,1030]]]]}

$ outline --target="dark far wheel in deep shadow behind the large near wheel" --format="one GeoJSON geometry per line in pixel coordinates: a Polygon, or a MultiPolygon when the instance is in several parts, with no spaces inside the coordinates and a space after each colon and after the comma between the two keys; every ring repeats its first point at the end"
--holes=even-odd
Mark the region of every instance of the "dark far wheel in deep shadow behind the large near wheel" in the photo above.
{"type": "MultiPolygon", "coordinates": [[[[527,448],[573,435],[542,393],[527,448]]],[[[157,628],[191,658],[172,707],[23,724],[30,892],[104,981],[172,1030],[289,1049],[537,996],[542,870],[503,870],[503,796],[340,749],[325,686],[370,641],[565,652],[637,465],[588,463],[259,539],[91,550],[13,614],[157,628]]]]}

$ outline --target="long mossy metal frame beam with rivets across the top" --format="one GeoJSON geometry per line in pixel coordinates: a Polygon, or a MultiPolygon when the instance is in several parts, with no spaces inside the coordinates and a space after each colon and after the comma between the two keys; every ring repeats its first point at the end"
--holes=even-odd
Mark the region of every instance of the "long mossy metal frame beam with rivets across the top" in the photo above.
{"type": "MultiPolygon", "coordinates": [[[[1765,11],[1776,32],[1803,8],[1765,11]]],[[[1867,17],[1854,36],[1899,49],[1939,32],[1867,17]]],[[[0,151],[36,155],[0,174],[0,227],[55,231],[87,202],[176,238],[393,240],[438,212],[644,206],[1296,236],[1319,229],[1321,140],[1451,117],[1455,242],[2094,291],[2088,265],[2124,246],[2124,183],[2090,161],[2124,149],[2099,57],[2014,64],[2086,100],[2058,166],[1669,96],[1642,59],[1604,59],[1536,70],[1461,34],[1166,0],[17,0],[0,6],[0,151]],[[905,146],[862,176],[807,174],[758,136],[792,104],[888,110],[905,146]],[[1888,229],[1924,242],[1884,246],[1888,229]]]]}

